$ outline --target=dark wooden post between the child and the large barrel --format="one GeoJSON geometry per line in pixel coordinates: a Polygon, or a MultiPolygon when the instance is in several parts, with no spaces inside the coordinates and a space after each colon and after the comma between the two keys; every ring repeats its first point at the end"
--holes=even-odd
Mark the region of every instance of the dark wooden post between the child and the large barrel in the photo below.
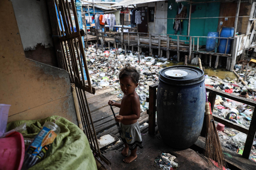
{"type": "Polygon", "coordinates": [[[155,135],[156,122],[156,88],[149,87],[149,102],[148,102],[148,133],[155,135]]]}

